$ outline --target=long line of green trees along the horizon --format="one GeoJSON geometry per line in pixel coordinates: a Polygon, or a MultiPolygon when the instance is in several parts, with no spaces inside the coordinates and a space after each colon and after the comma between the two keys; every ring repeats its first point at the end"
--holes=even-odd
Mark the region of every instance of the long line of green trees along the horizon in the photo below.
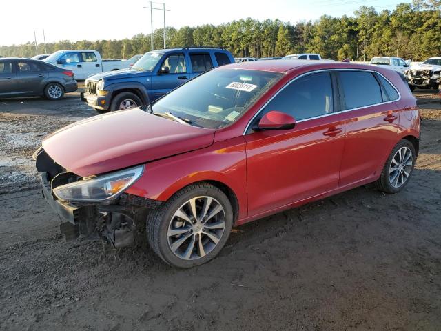
{"type": "MultiPolygon", "coordinates": [[[[234,57],[283,57],[300,52],[320,53],[325,59],[368,61],[375,56],[398,56],[421,61],[441,56],[441,0],[413,0],[392,11],[361,6],[353,16],[323,15],[296,24],[278,19],[247,18],[219,26],[165,28],[167,47],[223,47],[234,57]]],[[[154,49],[163,48],[163,29],[153,33],[154,49]]],[[[44,45],[37,45],[39,54],[44,45]]],[[[131,39],[58,41],[46,43],[50,54],[65,49],[94,49],[104,58],[130,58],[151,50],[150,34],[131,39]]],[[[33,42],[0,46],[3,57],[32,57],[33,42]]]]}

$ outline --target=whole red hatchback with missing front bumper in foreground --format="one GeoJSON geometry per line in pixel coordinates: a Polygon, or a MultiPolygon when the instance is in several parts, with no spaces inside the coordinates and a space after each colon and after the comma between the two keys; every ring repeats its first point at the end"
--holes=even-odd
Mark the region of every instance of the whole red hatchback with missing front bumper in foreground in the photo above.
{"type": "Polygon", "coordinates": [[[420,114],[395,71],[256,61],[211,70],[150,106],[79,121],[34,154],[68,239],[134,241],[200,265],[233,225],[376,182],[396,193],[418,155],[420,114]]]}

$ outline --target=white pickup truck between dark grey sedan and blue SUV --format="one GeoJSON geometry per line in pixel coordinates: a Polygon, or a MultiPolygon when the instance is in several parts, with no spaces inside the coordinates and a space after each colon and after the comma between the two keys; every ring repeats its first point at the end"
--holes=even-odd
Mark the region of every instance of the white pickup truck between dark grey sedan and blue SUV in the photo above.
{"type": "Polygon", "coordinates": [[[59,50],[43,61],[72,70],[75,79],[80,80],[100,72],[130,68],[134,63],[129,60],[103,60],[96,50],[59,50]]]}

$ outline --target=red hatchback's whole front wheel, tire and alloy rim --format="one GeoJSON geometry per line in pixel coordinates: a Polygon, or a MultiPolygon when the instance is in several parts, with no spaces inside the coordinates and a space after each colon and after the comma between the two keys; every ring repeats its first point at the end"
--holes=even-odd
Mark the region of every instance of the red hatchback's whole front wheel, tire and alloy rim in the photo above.
{"type": "Polygon", "coordinates": [[[147,239],[163,261],[192,268],[214,259],[233,225],[233,210],[220,189],[189,185],[147,217],[147,239]]]}

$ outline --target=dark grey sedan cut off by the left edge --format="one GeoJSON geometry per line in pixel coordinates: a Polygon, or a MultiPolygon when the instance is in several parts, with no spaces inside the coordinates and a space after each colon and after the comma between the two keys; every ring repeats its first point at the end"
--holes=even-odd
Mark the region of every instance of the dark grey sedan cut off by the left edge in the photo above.
{"type": "Polygon", "coordinates": [[[0,59],[0,98],[44,96],[59,100],[64,93],[74,92],[76,88],[71,70],[39,60],[0,59]]]}

